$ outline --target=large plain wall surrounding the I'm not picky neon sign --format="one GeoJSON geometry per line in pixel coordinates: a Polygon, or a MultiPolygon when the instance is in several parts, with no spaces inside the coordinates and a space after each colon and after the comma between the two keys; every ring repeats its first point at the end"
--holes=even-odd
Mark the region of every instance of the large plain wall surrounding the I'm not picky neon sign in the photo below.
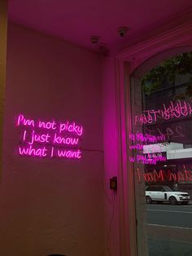
{"type": "Polygon", "coordinates": [[[0,254],[102,256],[103,116],[100,57],[9,24],[0,193],[0,254]],[[84,127],[80,160],[20,157],[15,116],[84,127]]]}

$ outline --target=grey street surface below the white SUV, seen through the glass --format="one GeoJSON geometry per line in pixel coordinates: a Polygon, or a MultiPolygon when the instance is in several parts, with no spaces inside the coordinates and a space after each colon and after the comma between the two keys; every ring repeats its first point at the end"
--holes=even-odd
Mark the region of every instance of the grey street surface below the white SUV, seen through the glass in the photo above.
{"type": "Polygon", "coordinates": [[[189,205],[146,205],[149,256],[192,256],[189,205]]]}

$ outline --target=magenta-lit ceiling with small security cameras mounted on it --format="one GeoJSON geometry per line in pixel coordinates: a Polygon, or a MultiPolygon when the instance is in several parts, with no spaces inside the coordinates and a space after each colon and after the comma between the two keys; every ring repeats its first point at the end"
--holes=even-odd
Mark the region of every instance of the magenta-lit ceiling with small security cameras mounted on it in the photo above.
{"type": "Polygon", "coordinates": [[[94,48],[98,35],[110,48],[187,15],[191,0],[10,0],[9,20],[31,29],[94,48]],[[117,29],[129,27],[125,38],[117,29]]]}

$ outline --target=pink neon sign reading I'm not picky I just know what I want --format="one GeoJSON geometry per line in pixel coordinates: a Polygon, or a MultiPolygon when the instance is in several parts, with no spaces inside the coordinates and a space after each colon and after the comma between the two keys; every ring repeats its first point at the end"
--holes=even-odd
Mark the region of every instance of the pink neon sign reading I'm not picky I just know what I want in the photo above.
{"type": "Polygon", "coordinates": [[[34,120],[20,114],[16,118],[16,126],[21,130],[20,156],[81,158],[81,150],[77,146],[83,127],[75,121],[34,120]]]}

